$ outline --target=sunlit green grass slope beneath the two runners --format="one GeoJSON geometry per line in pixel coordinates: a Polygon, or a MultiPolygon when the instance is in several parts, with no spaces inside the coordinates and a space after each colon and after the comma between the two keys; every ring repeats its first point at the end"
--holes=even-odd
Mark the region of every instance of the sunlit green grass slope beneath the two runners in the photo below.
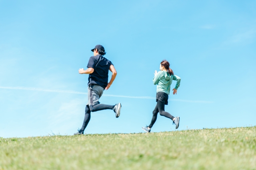
{"type": "Polygon", "coordinates": [[[0,138],[0,170],[256,170],[256,127],[0,138]]]}

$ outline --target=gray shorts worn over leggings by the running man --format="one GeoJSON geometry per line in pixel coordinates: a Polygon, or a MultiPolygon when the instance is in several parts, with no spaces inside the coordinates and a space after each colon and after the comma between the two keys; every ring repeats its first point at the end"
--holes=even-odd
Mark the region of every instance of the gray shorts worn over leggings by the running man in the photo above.
{"type": "Polygon", "coordinates": [[[89,106],[100,104],[99,99],[102,96],[104,88],[98,84],[90,84],[88,86],[88,103],[89,106]]]}

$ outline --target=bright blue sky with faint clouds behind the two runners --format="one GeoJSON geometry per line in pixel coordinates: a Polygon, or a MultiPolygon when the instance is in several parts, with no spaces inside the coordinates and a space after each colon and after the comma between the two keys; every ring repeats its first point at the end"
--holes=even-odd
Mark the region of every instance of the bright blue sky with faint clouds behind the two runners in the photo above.
{"type": "MultiPolygon", "coordinates": [[[[255,6],[255,0],[0,0],[0,136],[75,133],[87,103],[88,75],[78,69],[97,44],[118,72],[100,102],[121,102],[122,110],[118,119],[111,110],[92,113],[85,133],[142,132],[156,105],[152,78],[163,59],[182,79],[166,106],[180,116],[178,130],[255,125],[255,6]]],[[[152,128],[174,130],[162,116],[152,128]]]]}

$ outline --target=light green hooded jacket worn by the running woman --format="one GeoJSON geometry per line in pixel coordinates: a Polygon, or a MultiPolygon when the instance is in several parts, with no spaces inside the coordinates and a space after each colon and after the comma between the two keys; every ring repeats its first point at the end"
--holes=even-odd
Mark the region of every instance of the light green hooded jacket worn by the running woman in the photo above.
{"type": "Polygon", "coordinates": [[[159,71],[153,78],[154,85],[157,84],[156,92],[165,92],[170,94],[170,87],[172,80],[176,80],[175,89],[177,90],[180,87],[180,77],[176,75],[171,75],[166,71],[159,71]]]}

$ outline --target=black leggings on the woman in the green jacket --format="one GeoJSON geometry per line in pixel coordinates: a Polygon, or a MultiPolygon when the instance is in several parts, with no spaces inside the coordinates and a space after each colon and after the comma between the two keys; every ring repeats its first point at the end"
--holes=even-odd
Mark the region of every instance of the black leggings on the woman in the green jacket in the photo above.
{"type": "Polygon", "coordinates": [[[156,122],[158,112],[160,113],[161,116],[167,117],[169,119],[174,118],[170,113],[164,111],[164,102],[161,102],[160,100],[158,100],[156,103],[156,107],[153,110],[153,117],[152,117],[150,125],[148,126],[149,128],[151,128],[154,125],[154,123],[156,122]]]}

